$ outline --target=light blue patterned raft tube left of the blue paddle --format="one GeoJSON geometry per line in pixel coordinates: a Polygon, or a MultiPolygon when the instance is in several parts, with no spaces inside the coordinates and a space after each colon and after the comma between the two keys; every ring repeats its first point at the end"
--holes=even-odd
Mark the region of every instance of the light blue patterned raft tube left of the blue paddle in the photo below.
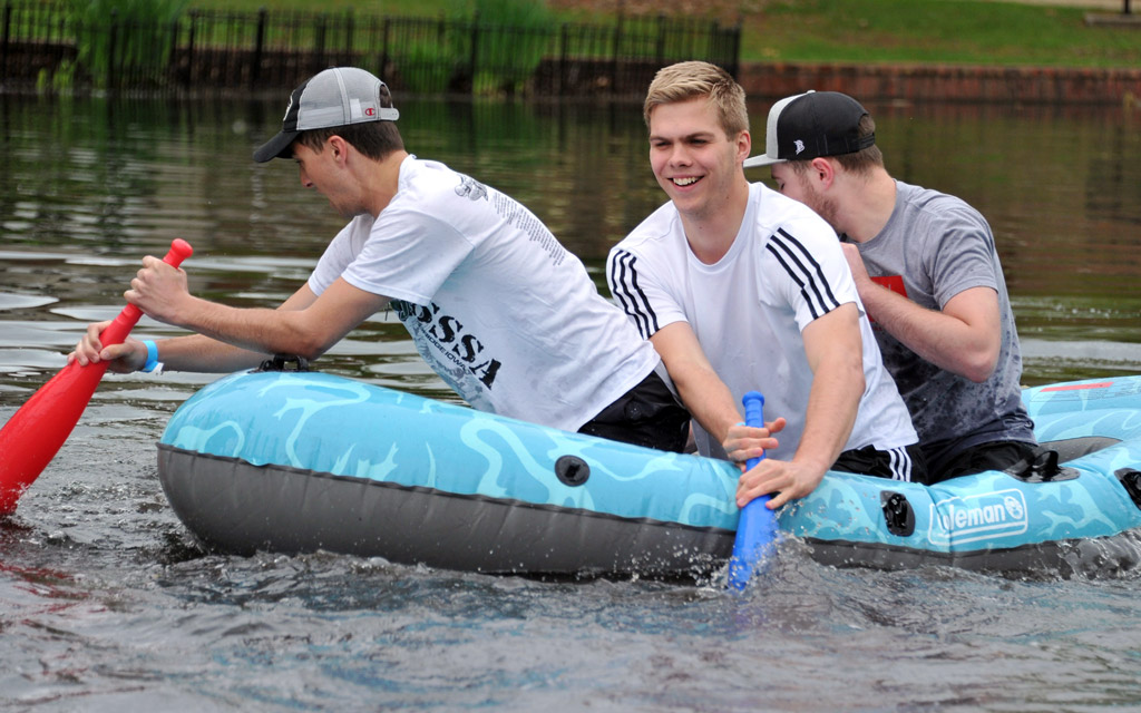
{"type": "Polygon", "coordinates": [[[163,445],[309,472],[735,532],[738,471],[322,373],[205,387],[163,445]],[[566,473],[567,456],[581,467],[566,473]],[[560,463],[561,461],[561,463],[560,463]]]}

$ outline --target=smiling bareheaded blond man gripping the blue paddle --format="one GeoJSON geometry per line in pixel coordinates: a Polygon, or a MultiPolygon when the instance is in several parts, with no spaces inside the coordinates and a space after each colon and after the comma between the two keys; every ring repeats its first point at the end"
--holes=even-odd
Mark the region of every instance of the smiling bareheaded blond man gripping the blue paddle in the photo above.
{"type": "Polygon", "coordinates": [[[923,480],[907,410],[835,234],[742,168],[745,92],[723,70],[661,70],[645,103],[650,165],[670,197],[610,251],[615,300],[665,363],[703,454],[744,463],[738,504],[810,493],[830,468],[923,480]],[[758,389],[767,429],[739,424],[758,389]],[[779,434],[779,443],[770,438],[779,434]]]}

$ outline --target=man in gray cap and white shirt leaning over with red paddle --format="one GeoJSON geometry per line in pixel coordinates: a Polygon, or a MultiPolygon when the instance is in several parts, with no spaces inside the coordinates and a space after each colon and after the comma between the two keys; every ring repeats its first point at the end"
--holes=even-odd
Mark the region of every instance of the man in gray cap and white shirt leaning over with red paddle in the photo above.
{"type": "Polygon", "coordinates": [[[512,198],[408,154],[397,118],[388,87],[364,70],[302,83],[253,157],[293,159],[301,185],[349,221],[308,282],[277,309],[238,309],[192,295],[181,270],[146,258],[127,300],[197,334],[103,349],[106,323],[95,324],[72,358],[114,359],[120,372],[157,359],[209,372],[274,354],[313,359],[391,306],[474,407],[680,451],[689,415],[655,373],[657,354],[582,262],[512,198]]]}

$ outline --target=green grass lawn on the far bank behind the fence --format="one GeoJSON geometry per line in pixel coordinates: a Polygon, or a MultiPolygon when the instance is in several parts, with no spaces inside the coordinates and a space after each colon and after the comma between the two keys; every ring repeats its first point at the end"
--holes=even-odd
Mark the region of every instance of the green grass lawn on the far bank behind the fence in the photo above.
{"type": "MultiPolygon", "coordinates": [[[[330,13],[469,14],[475,0],[324,0],[330,13]]],[[[549,0],[569,22],[612,22],[620,0],[549,0]]],[[[742,59],[1141,67],[1141,24],[1087,26],[1087,9],[980,0],[621,0],[743,24],[742,59]]],[[[1141,3],[1139,3],[1141,5],[1141,3]]],[[[311,0],[191,0],[191,7],[310,11],[311,0]]],[[[1139,8],[1141,11],[1141,8],[1139,8]]],[[[1141,17],[1139,17],[1141,19],[1141,17]]]]}

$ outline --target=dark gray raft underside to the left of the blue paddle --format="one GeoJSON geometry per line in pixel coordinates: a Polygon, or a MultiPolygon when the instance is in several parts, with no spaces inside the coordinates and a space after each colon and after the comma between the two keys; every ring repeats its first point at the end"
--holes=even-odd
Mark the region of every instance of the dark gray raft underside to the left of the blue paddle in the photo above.
{"type": "Polygon", "coordinates": [[[456,495],[159,445],[175,513],[235,554],[324,550],[486,573],[701,578],[735,533],[589,510],[456,495]]]}

